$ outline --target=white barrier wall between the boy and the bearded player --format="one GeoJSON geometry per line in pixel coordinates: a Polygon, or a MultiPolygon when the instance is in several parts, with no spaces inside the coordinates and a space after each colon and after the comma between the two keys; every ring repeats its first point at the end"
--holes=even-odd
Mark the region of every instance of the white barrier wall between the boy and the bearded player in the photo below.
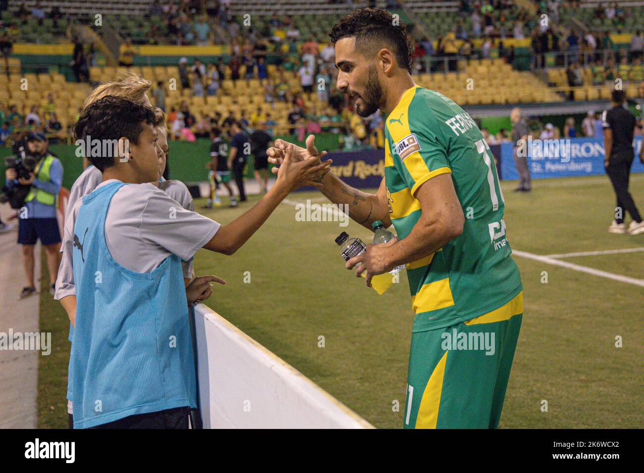
{"type": "Polygon", "coordinates": [[[194,322],[204,429],[374,428],[204,304],[194,322]]]}

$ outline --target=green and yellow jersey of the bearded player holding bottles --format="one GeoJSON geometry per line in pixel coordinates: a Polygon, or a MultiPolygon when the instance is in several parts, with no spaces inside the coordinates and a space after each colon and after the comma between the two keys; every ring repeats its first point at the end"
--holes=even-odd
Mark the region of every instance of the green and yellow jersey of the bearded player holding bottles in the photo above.
{"type": "Polygon", "coordinates": [[[503,220],[494,158],[469,115],[441,93],[408,89],[386,119],[384,179],[399,238],[421,216],[414,197],[425,181],[450,173],[465,215],[463,233],[407,264],[413,331],[443,328],[506,304],[522,290],[503,220]]]}

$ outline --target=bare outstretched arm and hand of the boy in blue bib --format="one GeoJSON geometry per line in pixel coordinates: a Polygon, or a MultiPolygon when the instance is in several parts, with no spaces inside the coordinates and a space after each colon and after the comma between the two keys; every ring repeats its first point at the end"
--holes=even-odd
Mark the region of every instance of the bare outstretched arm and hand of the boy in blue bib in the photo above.
{"type": "Polygon", "coordinates": [[[279,166],[278,179],[258,203],[228,225],[222,225],[204,248],[225,255],[232,255],[261,227],[279,203],[292,190],[304,185],[316,185],[319,176],[328,172],[331,160],[320,163],[317,156],[294,162],[292,146],[285,150],[285,158],[279,166]]]}

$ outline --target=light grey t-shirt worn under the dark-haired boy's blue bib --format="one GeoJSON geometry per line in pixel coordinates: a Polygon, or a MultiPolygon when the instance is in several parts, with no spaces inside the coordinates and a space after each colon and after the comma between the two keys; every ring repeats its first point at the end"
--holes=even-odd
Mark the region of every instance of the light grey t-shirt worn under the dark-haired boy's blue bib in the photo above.
{"type": "MultiPolygon", "coordinates": [[[[117,180],[105,181],[98,187],[112,182],[117,180]]],[[[185,185],[178,185],[176,181],[165,187],[179,194],[182,187],[187,191],[185,185]]],[[[184,196],[184,203],[185,199],[184,196]]],[[[56,281],[57,300],[75,294],[73,230],[81,205],[82,199],[77,200],[65,219],[62,262],[56,281]]],[[[191,204],[187,205],[190,207],[191,204]]],[[[219,228],[219,223],[184,209],[178,201],[152,184],[128,184],[114,194],[109,204],[105,236],[108,250],[118,264],[134,272],[147,273],[170,254],[184,261],[191,260],[219,228]]]]}

